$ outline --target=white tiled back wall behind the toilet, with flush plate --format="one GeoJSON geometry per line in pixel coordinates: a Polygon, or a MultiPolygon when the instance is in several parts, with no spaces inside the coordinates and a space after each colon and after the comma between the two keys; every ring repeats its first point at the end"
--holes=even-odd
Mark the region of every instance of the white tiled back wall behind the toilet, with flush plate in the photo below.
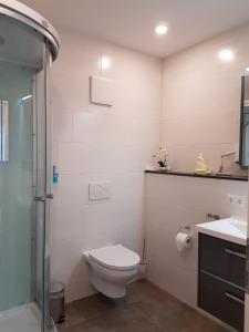
{"type": "Polygon", "coordinates": [[[92,292],[82,252],[121,242],[141,250],[144,169],[159,144],[160,60],[60,31],[52,68],[53,159],[60,174],[51,218],[52,277],[66,300],[92,292]],[[102,54],[111,68],[101,73],[102,54]],[[89,76],[113,80],[112,108],[89,103],[89,76]],[[89,203],[90,181],[110,180],[112,199],[89,203]]]}

